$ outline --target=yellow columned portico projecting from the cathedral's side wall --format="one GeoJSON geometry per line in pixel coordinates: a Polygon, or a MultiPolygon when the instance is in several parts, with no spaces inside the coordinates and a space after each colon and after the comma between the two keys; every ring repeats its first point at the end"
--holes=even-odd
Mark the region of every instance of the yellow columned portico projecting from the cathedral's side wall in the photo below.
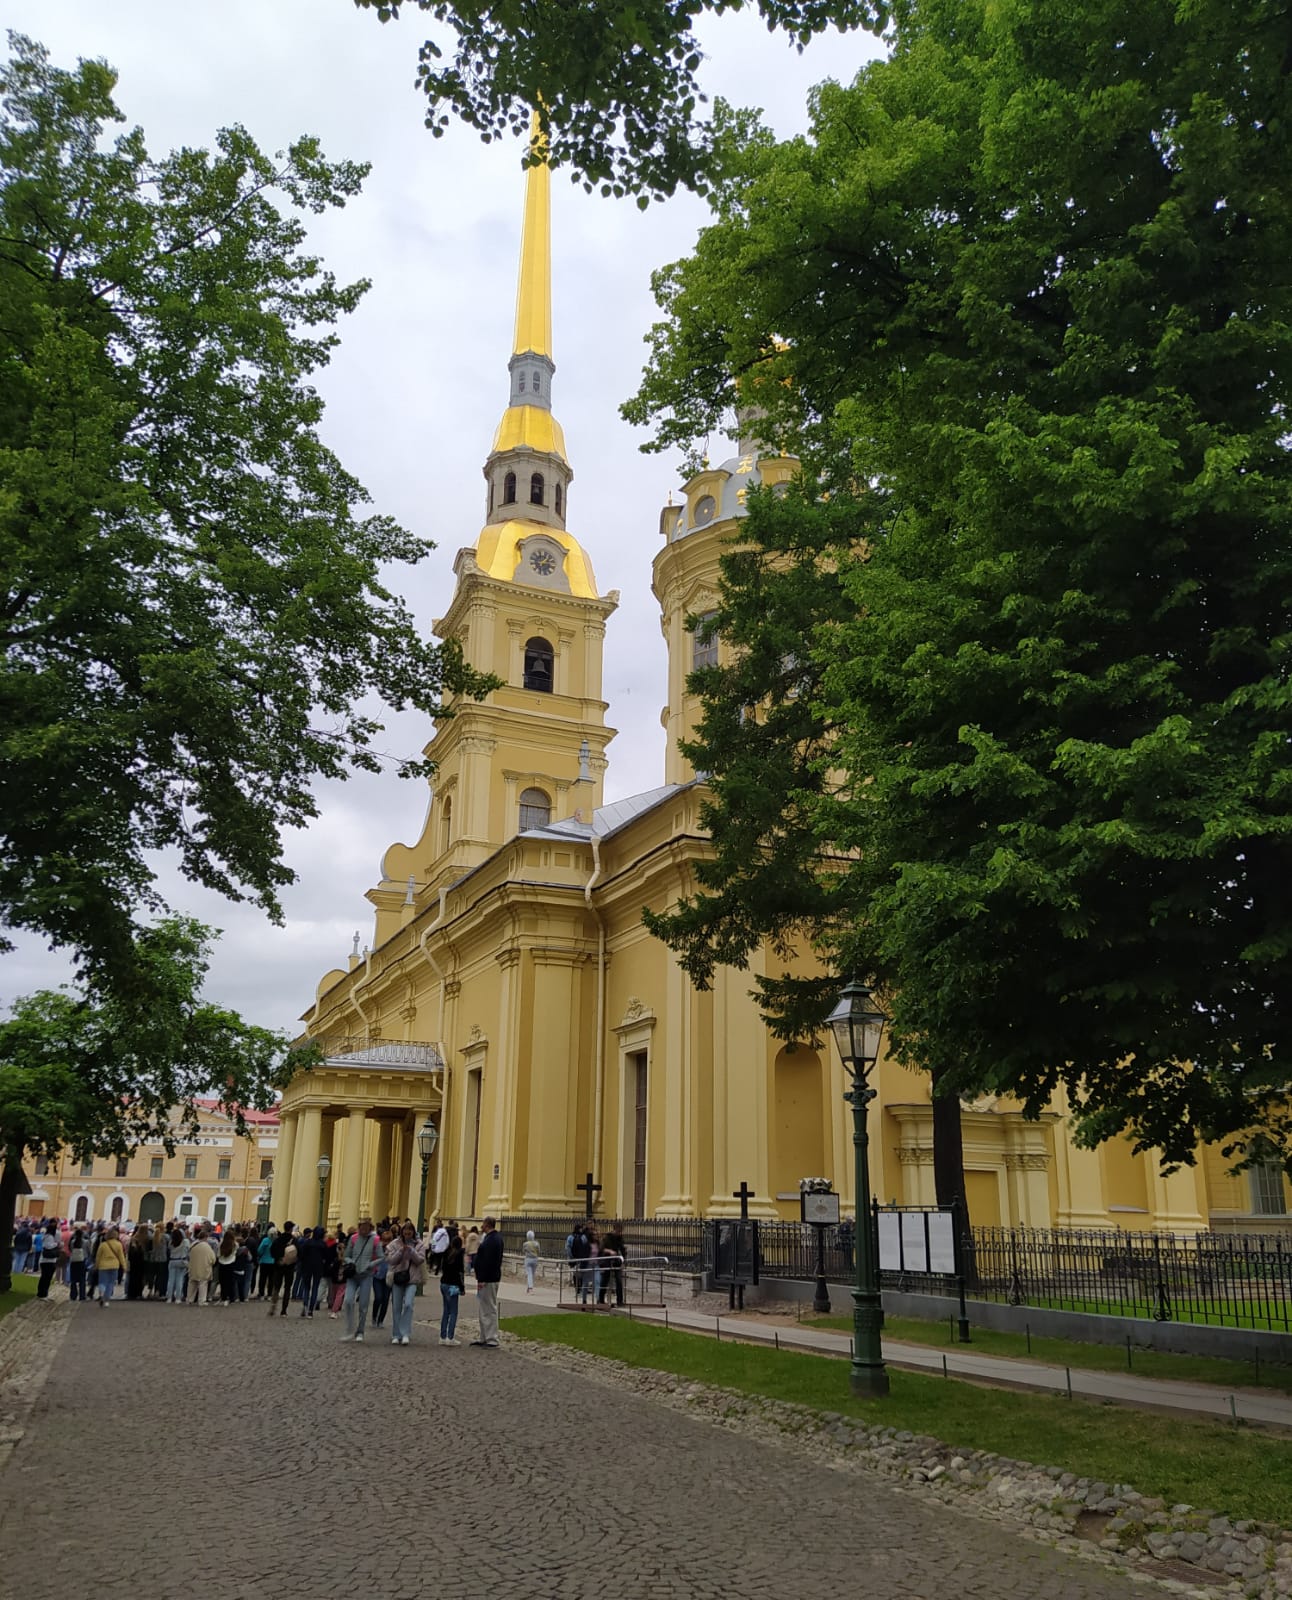
{"type": "MultiPolygon", "coordinates": [[[[313,1226],[320,1213],[318,1162],[329,1227],[360,1218],[417,1216],[422,1162],[417,1128],[445,1109],[445,1062],[433,1045],[369,1042],[328,1054],[288,1085],[278,1117],[273,1221],[313,1226]]],[[[430,1160],[427,1205],[438,1208],[440,1158],[430,1160]]]]}

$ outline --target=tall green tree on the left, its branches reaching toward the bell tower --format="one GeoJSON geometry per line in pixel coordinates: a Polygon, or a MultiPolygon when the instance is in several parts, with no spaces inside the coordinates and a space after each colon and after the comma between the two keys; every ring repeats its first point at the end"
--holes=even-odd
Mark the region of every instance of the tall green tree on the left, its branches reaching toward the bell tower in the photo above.
{"type": "Polygon", "coordinates": [[[104,62],[0,67],[0,920],[122,984],[152,851],[277,912],[310,782],[379,699],[486,686],[382,581],[430,546],[321,443],[363,283],[304,246],[365,168],[241,128],[152,158],[104,62]]]}

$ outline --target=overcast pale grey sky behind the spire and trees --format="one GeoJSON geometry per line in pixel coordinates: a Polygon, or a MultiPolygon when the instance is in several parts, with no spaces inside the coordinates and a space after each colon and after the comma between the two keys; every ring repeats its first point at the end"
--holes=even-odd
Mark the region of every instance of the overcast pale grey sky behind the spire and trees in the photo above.
{"type": "MultiPolygon", "coordinates": [[[[374,510],[437,542],[392,574],[424,627],[448,608],[453,558],[484,520],[481,466],[507,403],[524,176],[520,146],[464,128],[432,139],[414,91],[427,19],[413,6],[382,26],[349,0],[8,0],[8,27],[45,43],[59,66],[102,56],[120,74],[117,101],[154,154],[208,146],[245,125],[269,150],[318,134],[333,158],[368,160],[363,195],[312,221],[310,242],[344,282],[373,288],[341,326],[320,374],[323,435],[363,482],[374,510]]],[[[708,19],[710,94],[758,106],[780,136],[806,125],[809,88],[847,80],[876,53],[867,35],[828,35],[801,56],[756,14],[708,19]]],[[[571,531],[601,594],[619,589],[606,635],[604,694],[619,736],[606,798],[662,781],[664,640],[651,595],[659,509],[678,462],[644,456],[644,435],[617,411],[636,387],[656,320],[651,272],[689,253],[707,213],[689,195],[641,213],[585,195],[558,173],[552,190],[553,410],[574,467],[571,531]]],[[[724,454],[713,440],[713,459],[724,454]]],[[[421,750],[422,718],[390,717],[384,747],[421,750]]],[[[363,894],[387,845],[411,842],[425,787],[393,774],[320,787],[315,824],[286,842],[299,882],[286,923],[232,906],[162,869],[169,902],[224,930],[208,995],[249,1021],[293,1029],[318,979],[344,966],[355,931],[371,939],[363,894]]],[[[37,941],[0,957],[0,1000],[61,982],[67,968],[37,941]]]]}

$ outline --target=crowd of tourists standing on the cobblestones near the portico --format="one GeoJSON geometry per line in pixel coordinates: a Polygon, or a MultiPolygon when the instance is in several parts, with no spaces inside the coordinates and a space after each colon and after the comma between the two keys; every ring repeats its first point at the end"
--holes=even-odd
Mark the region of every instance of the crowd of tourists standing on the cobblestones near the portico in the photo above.
{"type": "MultiPolygon", "coordinates": [[[[532,1235],[531,1235],[532,1238],[532,1235]]],[[[392,1344],[413,1342],[413,1302],[429,1277],[440,1285],[440,1344],[457,1344],[457,1310],[473,1274],[480,1336],[497,1347],[497,1290],[502,1235],[492,1218],[481,1230],[435,1218],[429,1240],[411,1219],[368,1218],[352,1229],[273,1224],[141,1222],[123,1238],[115,1222],[50,1218],[32,1229],[19,1221],[13,1272],[40,1277],[37,1296],[67,1285],[74,1301],[109,1306],[125,1285],[130,1301],[171,1306],[267,1302],[269,1315],[345,1318],[345,1342],[363,1344],[371,1326],[390,1328],[392,1344]]]]}

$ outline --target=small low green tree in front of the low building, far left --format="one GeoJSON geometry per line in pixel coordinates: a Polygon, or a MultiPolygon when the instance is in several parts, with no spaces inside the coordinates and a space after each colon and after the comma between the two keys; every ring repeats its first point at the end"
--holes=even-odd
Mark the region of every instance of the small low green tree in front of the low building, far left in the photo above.
{"type": "MultiPolygon", "coordinates": [[[[217,1094],[238,1131],[243,1110],[267,1109],[278,1085],[309,1066],[286,1040],[201,998],[216,934],[169,917],[139,934],[147,1008],[110,989],[45,989],[0,1021],[0,1238],[13,1232],[26,1155],[77,1160],[128,1155],[197,1133],[195,1098],[217,1094]]],[[[0,1293],[10,1288],[10,1253],[0,1293]]]]}

